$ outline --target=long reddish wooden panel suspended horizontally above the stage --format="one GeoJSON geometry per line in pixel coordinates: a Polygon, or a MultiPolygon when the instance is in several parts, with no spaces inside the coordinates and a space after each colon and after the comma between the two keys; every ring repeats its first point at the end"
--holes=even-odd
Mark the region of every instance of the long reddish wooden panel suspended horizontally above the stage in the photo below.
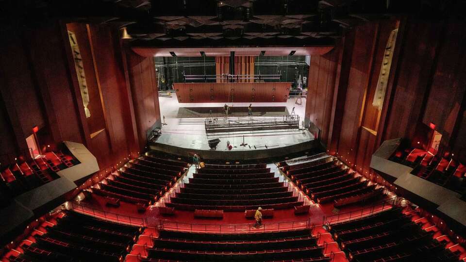
{"type": "Polygon", "coordinates": [[[285,102],[290,87],[291,82],[174,84],[180,103],[285,102]]]}

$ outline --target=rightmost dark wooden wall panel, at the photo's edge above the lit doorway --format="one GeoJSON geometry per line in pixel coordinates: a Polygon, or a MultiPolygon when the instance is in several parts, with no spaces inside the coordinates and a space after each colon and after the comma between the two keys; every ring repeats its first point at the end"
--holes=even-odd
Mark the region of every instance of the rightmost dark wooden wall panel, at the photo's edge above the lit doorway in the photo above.
{"type": "Polygon", "coordinates": [[[446,142],[449,142],[466,91],[462,78],[465,74],[465,46],[464,24],[449,23],[422,118],[426,125],[434,123],[435,129],[443,135],[442,141],[446,142]]]}

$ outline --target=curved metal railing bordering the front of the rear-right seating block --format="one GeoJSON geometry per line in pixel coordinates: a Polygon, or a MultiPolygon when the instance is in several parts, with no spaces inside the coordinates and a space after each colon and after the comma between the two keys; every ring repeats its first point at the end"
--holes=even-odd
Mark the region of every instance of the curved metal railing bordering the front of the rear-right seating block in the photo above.
{"type": "Polygon", "coordinates": [[[346,212],[346,213],[339,213],[339,214],[330,215],[330,216],[324,216],[322,217],[322,224],[325,225],[327,223],[329,224],[338,223],[338,222],[343,222],[346,220],[360,218],[360,217],[370,215],[373,213],[378,213],[383,210],[387,210],[391,207],[398,206],[399,200],[400,200],[400,197],[392,197],[390,199],[386,199],[382,202],[375,203],[371,205],[370,207],[366,207],[363,209],[346,212]]]}

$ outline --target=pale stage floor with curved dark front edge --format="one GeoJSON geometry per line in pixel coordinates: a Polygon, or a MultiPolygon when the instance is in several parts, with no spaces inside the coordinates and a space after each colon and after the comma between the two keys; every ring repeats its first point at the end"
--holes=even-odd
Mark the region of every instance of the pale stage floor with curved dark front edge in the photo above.
{"type": "MultiPolygon", "coordinates": [[[[200,154],[208,159],[258,159],[281,156],[316,147],[316,141],[307,130],[261,130],[245,132],[206,133],[204,121],[212,115],[225,118],[222,112],[224,103],[179,103],[175,94],[172,97],[159,97],[161,115],[165,116],[166,125],[162,135],[149,143],[150,149],[164,150],[169,153],[192,156],[200,154]],[[220,139],[216,150],[209,147],[208,140],[220,139]],[[243,144],[246,146],[241,146],[243,144]],[[233,146],[227,149],[227,141],[233,146]]],[[[305,99],[301,105],[295,104],[296,98],[281,103],[252,103],[252,118],[289,115],[295,107],[295,113],[304,118],[305,99]]],[[[248,117],[250,103],[228,103],[232,109],[229,118],[248,117]]],[[[300,125],[301,127],[301,125],[300,125]]]]}

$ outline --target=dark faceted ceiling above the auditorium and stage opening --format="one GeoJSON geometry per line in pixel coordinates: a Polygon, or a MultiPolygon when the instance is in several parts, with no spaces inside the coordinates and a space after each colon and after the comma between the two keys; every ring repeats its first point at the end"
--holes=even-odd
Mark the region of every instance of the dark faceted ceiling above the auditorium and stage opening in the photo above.
{"type": "Polygon", "coordinates": [[[369,20],[464,17],[465,0],[0,0],[0,21],[126,27],[134,46],[318,46],[369,20]]]}

